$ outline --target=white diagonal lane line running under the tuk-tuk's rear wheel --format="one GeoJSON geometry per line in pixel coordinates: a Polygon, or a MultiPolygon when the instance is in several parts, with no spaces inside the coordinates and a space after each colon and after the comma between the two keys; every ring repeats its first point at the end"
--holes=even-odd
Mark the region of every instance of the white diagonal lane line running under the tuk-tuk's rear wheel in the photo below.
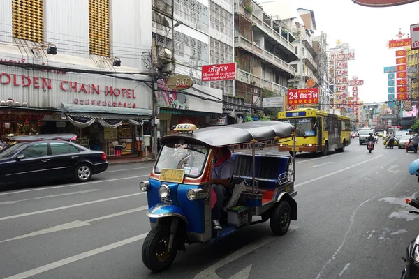
{"type": "MultiPolygon", "coordinates": [[[[299,226],[290,225],[290,228],[288,229],[288,233],[294,231],[295,229],[298,229],[299,226]]],[[[249,254],[249,252],[256,250],[262,246],[265,246],[267,243],[270,243],[274,241],[275,239],[278,239],[277,236],[263,236],[260,237],[257,241],[253,243],[249,243],[247,246],[244,246],[242,249],[237,250],[233,252],[233,254],[228,255],[224,259],[221,259],[221,261],[216,262],[212,266],[208,267],[207,269],[201,271],[198,273],[193,279],[220,279],[219,276],[216,275],[215,271],[219,269],[221,266],[224,266],[226,264],[230,264],[230,262],[235,261],[236,259],[239,259],[240,257],[243,257],[244,255],[249,254]]]]}

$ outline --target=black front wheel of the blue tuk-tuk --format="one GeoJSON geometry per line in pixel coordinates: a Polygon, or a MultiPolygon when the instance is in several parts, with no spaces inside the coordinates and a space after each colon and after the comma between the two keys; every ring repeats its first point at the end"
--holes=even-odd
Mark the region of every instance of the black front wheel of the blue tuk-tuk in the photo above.
{"type": "Polygon", "coordinates": [[[168,269],[177,255],[177,241],[168,250],[170,227],[167,225],[154,227],[147,234],[142,244],[142,262],[147,269],[154,272],[168,269]]]}

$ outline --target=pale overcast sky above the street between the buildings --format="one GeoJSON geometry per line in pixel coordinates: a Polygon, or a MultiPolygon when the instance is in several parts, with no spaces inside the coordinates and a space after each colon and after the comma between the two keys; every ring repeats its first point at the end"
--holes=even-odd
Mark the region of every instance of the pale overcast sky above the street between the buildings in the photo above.
{"type": "MultiPolygon", "coordinates": [[[[262,4],[267,0],[259,0],[262,4]]],[[[269,1],[269,2],[272,2],[269,1]]],[[[395,66],[395,50],[387,42],[395,34],[410,33],[410,25],[419,23],[419,2],[389,8],[368,8],[351,0],[276,0],[281,3],[280,17],[293,17],[297,8],[314,11],[316,35],[328,34],[329,47],[338,39],[355,49],[355,60],[350,61],[349,77],[357,75],[364,80],[358,86],[360,100],[364,103],[387,100],[387,75],[383,68],[395,66]]],[[[274,15],[270,13],[270,15],[274,15]]]]}

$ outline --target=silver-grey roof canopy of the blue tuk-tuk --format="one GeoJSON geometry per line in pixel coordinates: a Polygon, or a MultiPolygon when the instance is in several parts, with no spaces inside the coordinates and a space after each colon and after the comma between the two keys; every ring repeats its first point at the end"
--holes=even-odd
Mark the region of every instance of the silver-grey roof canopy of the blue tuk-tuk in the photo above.
{"type": "Polygon", "coordinates": [[[291,137],[294,126],[279,121],[251,121],[228,126],[202,128],[192,135],[167,135],[161,138],[162,144],[187,139],[186,142],[203,143],[210,146],[229,146],[249,144],[256,140],[264,142],[278,137],[291,137]]]}

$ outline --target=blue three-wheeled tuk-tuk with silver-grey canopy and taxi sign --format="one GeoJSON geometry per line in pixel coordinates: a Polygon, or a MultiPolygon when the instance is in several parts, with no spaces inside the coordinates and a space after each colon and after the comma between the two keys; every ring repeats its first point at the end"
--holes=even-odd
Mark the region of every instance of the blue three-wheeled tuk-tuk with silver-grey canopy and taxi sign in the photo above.
{"type": "MultiPolygon", "coordinates": [[[[163,271],[185,244],[210,243],[238,229],[270,220],[272,232],[288,232],[297,220],[294,156],[258,155],[256,143],[293,137],[294,126],[279,121],[252,121],[197,129],[179,124],[178,134],[161,138],[161,150],[148,181],[147,216],[152,230],[142,246],[142,262],[152,271],[163,271]],[[252,153],[234,153],[230,185],[240,186],[237,203],[224,208],[222,229],[212,228],[212,169],[218,148],[251,144],[252,153]],[[292,165],[292,168],[291,168],[292,165]],[[253,218],[258,216],[259,218],[253,218]],[[258,219],[258,220],[254,220],[258,219]]],[[[233,196],[235,190],[233,190],[233,196]]],[[[215,196],[216,198],[216,196],[215,196]]],[[[226,204],[226,201],[224,201],[226,204]]]]}

